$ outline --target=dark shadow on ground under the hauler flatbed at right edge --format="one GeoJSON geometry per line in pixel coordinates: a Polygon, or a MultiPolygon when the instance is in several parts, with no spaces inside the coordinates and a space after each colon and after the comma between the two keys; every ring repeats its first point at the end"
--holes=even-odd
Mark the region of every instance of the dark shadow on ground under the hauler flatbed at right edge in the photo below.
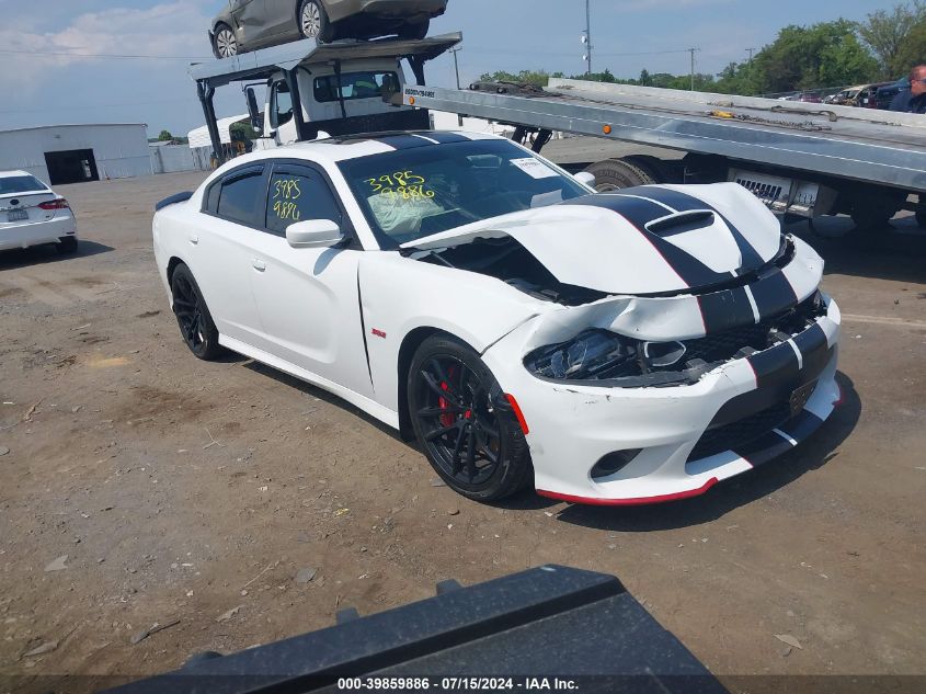
{"type": "Polygon", "coordinates": [[[926,231],[914,217],[893,219],[890,227],[862,231],[847,217],[823,217],[811,226],[800,221],[786,227],[810,243],[826,261],[825,274],[926,281],[926,231]]]}

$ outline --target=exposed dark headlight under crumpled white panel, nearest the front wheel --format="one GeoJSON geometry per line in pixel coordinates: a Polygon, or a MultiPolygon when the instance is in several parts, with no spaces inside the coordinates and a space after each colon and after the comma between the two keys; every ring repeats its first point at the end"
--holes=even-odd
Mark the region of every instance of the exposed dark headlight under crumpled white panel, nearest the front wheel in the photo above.
{"type": "Polygon", "coordinates": [[[619,378],[640,373],[637,343],[606,330],[584,330],[560,344],[534,350],[524,360],[528,371],[565,380],[619,378]]]}

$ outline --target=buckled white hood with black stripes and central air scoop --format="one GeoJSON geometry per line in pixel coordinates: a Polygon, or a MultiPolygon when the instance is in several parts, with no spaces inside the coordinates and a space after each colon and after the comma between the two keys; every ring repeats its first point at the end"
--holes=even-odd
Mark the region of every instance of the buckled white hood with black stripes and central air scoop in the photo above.
{"type": "Polygon", "coordinates": [[[561,283],[607,294],[721,284],[771,260],[777,219],[735,183],[640,186],[513,213],[404,244],[439,249],[508,236],[561,283]]]}

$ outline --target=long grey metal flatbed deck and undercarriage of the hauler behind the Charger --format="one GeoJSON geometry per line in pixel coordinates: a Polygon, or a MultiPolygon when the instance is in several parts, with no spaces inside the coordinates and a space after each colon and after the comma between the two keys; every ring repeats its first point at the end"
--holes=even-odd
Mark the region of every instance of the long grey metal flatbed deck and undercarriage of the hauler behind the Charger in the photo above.
{"type": "Polygon", "coordinates": [[[599,190],[736,181],[778,214],[890,219],[926,193],[926,117],[751,96],[552,79],[546,89],[407,86],[403,105],[515,125],[538,150],[559,130],[686,152],[590,162],[599,190]]]}

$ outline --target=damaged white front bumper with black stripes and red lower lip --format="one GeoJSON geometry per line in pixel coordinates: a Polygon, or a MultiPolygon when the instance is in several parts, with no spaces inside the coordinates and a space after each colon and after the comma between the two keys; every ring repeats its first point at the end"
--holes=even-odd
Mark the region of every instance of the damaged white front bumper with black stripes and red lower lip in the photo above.
{"type": "MultiPolygon", "coordinates": [[[[598,504],[668,501],[768,462],[832,413],[839,399],[841,317],[835,302],[823,302],[823,315],[792,339],[717,365],[686,385],[556,383],[511,368],[544,343],[538,334],[564,335],[569,323],[574,332],[575,309],[528,321],[483,359],[504,376],[501,386],[516,397],[529,426],[538,493],[598,504]],[[599,463],[608,456],[624,462],[603,475],[599,463]]],[[[628,326],[643,326],[645,339],[678,330],[677,310],[666,299],[614,299],[583,309],[591,311],[583,312],[583,325],[614,325],[618,312],[628,326]],[[635,320],[635,311],[645,320],[635,320]]]]}

